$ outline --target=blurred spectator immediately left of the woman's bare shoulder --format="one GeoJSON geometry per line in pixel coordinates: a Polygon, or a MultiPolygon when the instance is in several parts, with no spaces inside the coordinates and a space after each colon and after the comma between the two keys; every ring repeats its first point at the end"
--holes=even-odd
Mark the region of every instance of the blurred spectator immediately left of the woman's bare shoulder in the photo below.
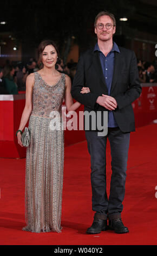
{"type": "Polygon", "coordinates": [[[18,91],[25,91],[25,81],[28,76],[25,66],[18,64],[19,71],[16,73],[15,82],[17,84],[18,91]]]}

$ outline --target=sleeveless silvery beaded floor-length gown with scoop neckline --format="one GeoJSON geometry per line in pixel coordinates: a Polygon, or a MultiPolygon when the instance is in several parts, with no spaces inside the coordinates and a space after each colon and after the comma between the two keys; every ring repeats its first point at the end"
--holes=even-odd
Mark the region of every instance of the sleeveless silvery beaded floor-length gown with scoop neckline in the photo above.
{"type": "Polygon", "coordinates": [[[30,145],[26,155],[25,231],[61,231],[64,131],[52,129],[62,116],[65,74],[50,86],[34,73],[33,108],[29,119],[30,145]],[[55,112],[53,112],[55,111],[55,112]],[[55,124],[53,123],[53,127],[55,124]]]}

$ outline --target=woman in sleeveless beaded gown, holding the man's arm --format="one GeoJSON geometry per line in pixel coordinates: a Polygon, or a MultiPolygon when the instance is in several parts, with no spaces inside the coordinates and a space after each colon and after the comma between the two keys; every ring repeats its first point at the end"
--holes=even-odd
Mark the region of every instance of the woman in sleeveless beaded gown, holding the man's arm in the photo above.
{"type": "MultiPolygon", "coordinates": [[[[56,113],[62,120],[63,99],[68,111],[75,111],[81,105],[73,103],[70,78],[55,69],[57,58],[54,42],[42,41],[38,47],[38,63],[43,68],[27,77],[25,108],[17,132],[18,144],[22,146],[20,131],[29,120],[30,145],[25,173],[27,225],[23,230],[36,233],[61,232],[64,131],[52,129],[52,121],[56,113]]],[[[89,88],[81,91],[88,92],[89,88]]]]}

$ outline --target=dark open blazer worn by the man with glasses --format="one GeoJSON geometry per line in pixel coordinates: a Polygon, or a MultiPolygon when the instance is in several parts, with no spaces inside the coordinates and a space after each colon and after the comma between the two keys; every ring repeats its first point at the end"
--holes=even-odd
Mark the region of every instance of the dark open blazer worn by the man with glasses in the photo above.
{"type": "MultiPolygon", "coordinates": [[[[113,111],[114,117],[122,132],[135,131],[132,102],[141,94],[139,72],[135,53],[119,47],[120,53],[115,52],[114,74],[110,96],[117,102],[113,111]]],[[[84,52],[77,64],[71,95],[84,105],[84,111],[108,111],[96,103],[97,97],[108,95],[108,89],[101,68],[98,51],[93,49],[84,52]],[[90,93],[81,94],[82,87],[89,87],[90,93]]],[[[103,123],[103,115],[102,115],[103,123]]],[[[91,130],[91,123],[90,128],[91,130]]],[[[97,129],[96,129],[97,130],[97,129]]]]}

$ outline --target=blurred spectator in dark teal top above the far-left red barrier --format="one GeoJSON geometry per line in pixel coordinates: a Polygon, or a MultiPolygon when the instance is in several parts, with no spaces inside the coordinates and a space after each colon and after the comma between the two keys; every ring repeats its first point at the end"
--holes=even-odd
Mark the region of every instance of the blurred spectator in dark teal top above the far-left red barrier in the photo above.
{"type": "Polygon", "coordinates": [[[4,82],[5,88],[9,94],[18,94],[16,83],[14,82],[15,68],[13,66],[8,66],[5,70],[4,82]]]}

